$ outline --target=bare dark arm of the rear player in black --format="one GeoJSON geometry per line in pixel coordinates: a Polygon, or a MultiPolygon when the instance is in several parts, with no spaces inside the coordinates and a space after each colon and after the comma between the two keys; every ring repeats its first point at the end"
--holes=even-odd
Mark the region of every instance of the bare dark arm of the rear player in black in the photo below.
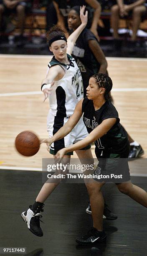
{"type": "Polygon", "coordinates": [[[100,63],[100,68],[99,68],[98,72],[105,74],[106,68],[107,68],[107,61],[106,61],[103,51],[101,50],[101,47],[99,46],[99,44],[96,40],[89,40],[88,43],[89,43],[89,48],[93,52],[97,61],[100,63]]]}

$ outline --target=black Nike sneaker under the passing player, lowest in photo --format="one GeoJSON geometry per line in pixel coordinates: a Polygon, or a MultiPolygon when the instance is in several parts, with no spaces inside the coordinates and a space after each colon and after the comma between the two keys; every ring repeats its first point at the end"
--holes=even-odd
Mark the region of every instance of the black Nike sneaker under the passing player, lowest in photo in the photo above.
{"type": "Polygon", "coordinates": [[[93,244],[96,242],[103,243],[106,241],[106,234],[104,231],[98,231],[96,228],[89,230],[86,235],[76,238],[76,243],[93,244]]]}

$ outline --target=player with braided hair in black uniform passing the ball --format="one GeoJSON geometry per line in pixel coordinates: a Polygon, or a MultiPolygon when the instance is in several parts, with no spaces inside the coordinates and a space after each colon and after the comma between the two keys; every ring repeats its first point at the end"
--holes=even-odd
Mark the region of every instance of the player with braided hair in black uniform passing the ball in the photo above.
{"type": "Polygon", "coordinates": [[[96,178],[94,175],[94,179],[89,179],[89,182],[86,183],[90,196],[93,228],[86,235],[76,239],[76,242],[80,244],[93,244],[106,240],[102,225],[104,199],[100,191],[104,183],[108,181],[105,179],[104,174],[109,174],[110,176],[113,173],[122,174],[122,182],[120,177],[114,181],[119,191],[147,207],[147,192],[133,185],[130,181],[128,166],[129,141],[127,132],[119,123],[118,112],[109,101],[111,89],[112,80],[106,74],[92,76],[87,87],[87,97],[76,105],[74,114],[69,118],[68,122],[52,138],[46,139],[46,143],[49,146],[54,141],[63,138],[74,128],[83,115],[89,135],[74,145],[62,148],[57,152],[56,158],[62,159],[67,152],[79,150],[95,142],[95,152],[99,164],[94,174],[100,173],[102,177],[98,179],[98,176],[96,178]]]}

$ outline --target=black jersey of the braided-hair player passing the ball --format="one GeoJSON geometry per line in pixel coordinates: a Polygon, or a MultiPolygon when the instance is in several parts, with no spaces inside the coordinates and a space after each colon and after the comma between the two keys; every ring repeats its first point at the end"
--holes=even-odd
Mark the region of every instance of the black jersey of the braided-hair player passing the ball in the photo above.
{"type": "Polygon", "coordinates": [[[97,149],[108,150],[112,153],[119,153],[122,149],[124,150],[125,144],[127,145],[127,132],[119,123],[118,112],[109,100],[106,100],[104,105],[95,111],[93,101],[85,97],[82,104],[82,112],[84,113],[83,120],[88,133],[91,133],[103,120],[117,118],[112,128],[95,141],[95,146],[97,149]]]}

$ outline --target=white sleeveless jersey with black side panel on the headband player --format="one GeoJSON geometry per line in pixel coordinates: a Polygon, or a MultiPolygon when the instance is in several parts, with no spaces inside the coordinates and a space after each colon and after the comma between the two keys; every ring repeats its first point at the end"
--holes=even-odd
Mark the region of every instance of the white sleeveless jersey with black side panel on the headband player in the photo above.
{"type": "Polygon", "coordinates": [[[60,65],[65,70],[65,75],[59,81],[55,81],[53,90],[49,96],[50,113],[58,117],[68,117],[74,113],[79,100],[83,99],[83,81],[81,72],[73,57],[67,54],[70,64],[63,64],[53,58],[48,64],[51,68],[60,65]]]}

